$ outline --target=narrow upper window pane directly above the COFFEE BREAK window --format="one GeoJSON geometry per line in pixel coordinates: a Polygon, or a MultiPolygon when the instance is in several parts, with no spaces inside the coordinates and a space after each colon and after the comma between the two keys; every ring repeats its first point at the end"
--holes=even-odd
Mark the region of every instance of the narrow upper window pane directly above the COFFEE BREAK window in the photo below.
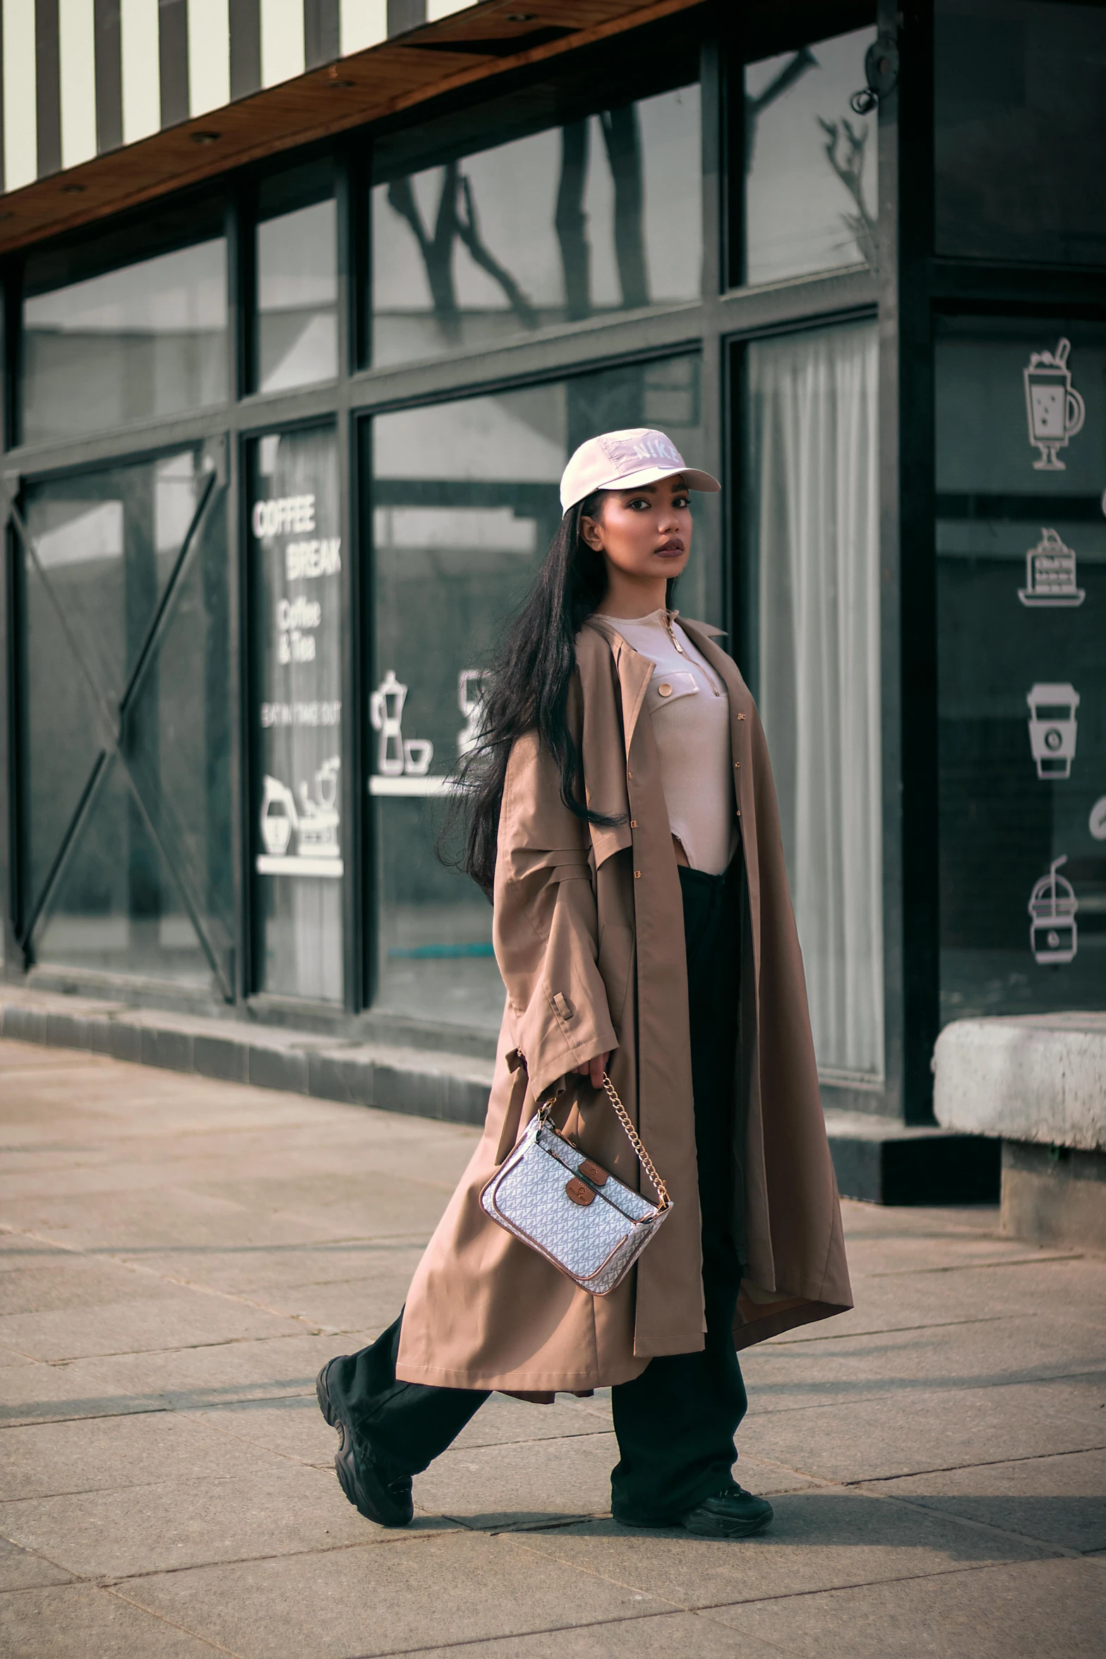
{"type": "Polygon", "coordinates": [[[338,373],[338,219],[330,166],[264,181],[257,202],[257,392],[338,373]]]}

